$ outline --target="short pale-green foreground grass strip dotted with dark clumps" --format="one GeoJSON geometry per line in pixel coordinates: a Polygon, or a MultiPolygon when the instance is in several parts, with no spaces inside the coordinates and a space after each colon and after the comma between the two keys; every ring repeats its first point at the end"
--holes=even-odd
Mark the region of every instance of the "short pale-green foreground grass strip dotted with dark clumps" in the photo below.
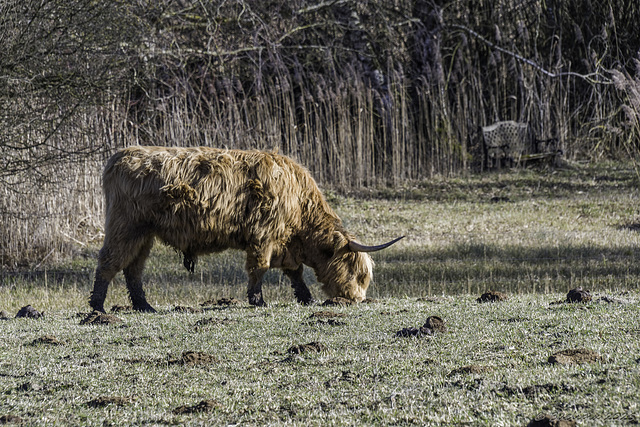
{"type": "Polygon", "coordinates": [[[122,424],[471,424],[524,425],[540,412],[583,425],[640,422],[640,310],[621,302],[549,305],[553,294],[479,304],[470,296],[393,298],[333,308],[330,326],[309,319],[320,307],[276,303],[175,313],[121,314],[121,325],[79,325],[73,311],[0,323],[0,416],[31,425],[122,424]],[[430,315],[448,332],[398,338],[430,315]],[[202,319],[218,323],[197,328],[202,319]],[[61,345],[32,342],[45,334],[61,345]],[[290,355],[320,342],[320,353],[290,355]],[[603,362],[547,363],[567,348],[603,362]],[[170,364],[185,351],[215,363],[170,364]],[[483,373],[456,373],[468,365],[483,373]],[[527,387],[539,391],[527,394],[527,387]],[[132,399],[91,407],[98,397],[132,399]],[[179,406],[217,402],[206,413],[179,406]]]}

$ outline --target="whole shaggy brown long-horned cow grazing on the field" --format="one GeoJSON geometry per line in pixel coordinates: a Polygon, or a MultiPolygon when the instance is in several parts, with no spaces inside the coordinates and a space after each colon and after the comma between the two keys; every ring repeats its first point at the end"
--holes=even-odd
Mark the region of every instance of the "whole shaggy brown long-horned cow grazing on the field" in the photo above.
{"type": "Polygon", "coordinates": [[[198,255],[228,248],[247,254],[248,297],[265,305],[262,276],[280,268],[296,298],[312,302],[302,265],[315,270],[329,297],[365,298],[373,262],[342,226],[309,172],[288,157],[215,148],[130,147],[107,163],[104,246],[90,304],[104,311],[111,279],[124,275],[133,307],[154,311],[142,270],[154,239],[182,251],[193,271],[198,255]]]}

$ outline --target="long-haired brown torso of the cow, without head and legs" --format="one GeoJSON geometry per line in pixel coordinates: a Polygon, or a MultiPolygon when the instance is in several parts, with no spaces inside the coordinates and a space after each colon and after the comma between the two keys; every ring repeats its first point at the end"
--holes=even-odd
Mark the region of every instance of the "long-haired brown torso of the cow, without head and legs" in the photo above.
{"type": "Polygon", "coordinates": [[[260,151],[129,147],[108,161],[103,187],[107,228],[146,227],[196,254],[284,244],[313,205],[328,208],[304,168],[260,151]]]}

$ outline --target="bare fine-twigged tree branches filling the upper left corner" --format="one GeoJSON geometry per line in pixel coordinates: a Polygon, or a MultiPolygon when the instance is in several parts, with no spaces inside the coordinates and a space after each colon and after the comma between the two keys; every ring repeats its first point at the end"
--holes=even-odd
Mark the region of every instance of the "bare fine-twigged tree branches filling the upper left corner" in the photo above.
{"type": "Polygon", "coordinates": [[[0,183],[54,178],[45,169],[99,150],[87,133],[131,79],[137,22],[121,2],[0,4],[0,183]]]}

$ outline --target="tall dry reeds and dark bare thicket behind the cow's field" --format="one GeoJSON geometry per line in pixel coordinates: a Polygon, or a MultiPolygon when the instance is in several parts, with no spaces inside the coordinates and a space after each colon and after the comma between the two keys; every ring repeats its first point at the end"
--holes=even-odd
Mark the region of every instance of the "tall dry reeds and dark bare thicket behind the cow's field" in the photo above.
{"type": "MultiPolygon", "coordinates": [[[[38,265],[99,241],[102,165],[128,145],[278,150],[341,190],[480,170],[479,129],[499,120],[558,137],[567,157],[636,156],[640,74],[628,61],[640,8],[630,3],[118,6],[126,42],[111,33],[101,45],[85,40],[104,58],[128,55],[126,65],[105,60],[101,78],[115,77],[85,85],[98,98],[80,105],[73,73],[71,89],[49,95],[29,84],[0,91],[2,105],[45,102],[50,115],[33,132],[22,131],[33,117],[15,116],[19,126],[0,138],[5,158],[29,166],[0,171],[0,264],[38,265]]],[[[55,4],[76,16],[75,2],[55,4]]],[[[22,27],[4,28],[19,39],[22,27]]],[[[56,53],[55,40],[47,46],[62,70],[86,63],[65,62],[70,53],[56,53]]]]}

